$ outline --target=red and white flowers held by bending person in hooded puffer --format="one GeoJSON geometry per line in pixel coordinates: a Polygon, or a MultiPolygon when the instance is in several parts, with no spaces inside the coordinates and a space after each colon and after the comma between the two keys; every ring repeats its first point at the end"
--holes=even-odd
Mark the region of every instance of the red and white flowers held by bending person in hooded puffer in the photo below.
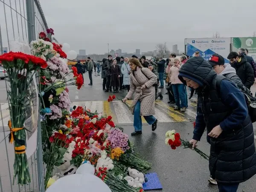
{"type": "MultiPolygon", "coordinates": [[[[166,132],[166,139],[165,139],[166,145],[170,145],[172,149],[176,149],[176,147],[184,146],[184,148],[191,148],[192,145],[189,143],[188,140],[183,140],[180,138],[179,133],[175,133],[175,130],[167,131],[166,132]]],[[[209,156],[205,154],[203,151],[199,150],[198,148],[194,148],[195,152],[201,155],[206,160],[209,160],[209,156]]]]}

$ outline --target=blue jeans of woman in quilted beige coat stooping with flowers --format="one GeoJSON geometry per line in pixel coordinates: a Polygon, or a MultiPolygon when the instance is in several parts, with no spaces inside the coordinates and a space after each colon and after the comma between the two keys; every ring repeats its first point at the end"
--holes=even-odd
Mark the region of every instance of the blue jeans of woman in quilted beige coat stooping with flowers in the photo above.
{"type": "MultiPolygon", "coordinates": [[[[152,125],[157,119],[153,115],[144,116],[149,125],[152,125]]],[[[140,116],[140,101],[137,101],[134,108],[134,129],[135,131],[142,130],[142,121],[140,116]]]]}

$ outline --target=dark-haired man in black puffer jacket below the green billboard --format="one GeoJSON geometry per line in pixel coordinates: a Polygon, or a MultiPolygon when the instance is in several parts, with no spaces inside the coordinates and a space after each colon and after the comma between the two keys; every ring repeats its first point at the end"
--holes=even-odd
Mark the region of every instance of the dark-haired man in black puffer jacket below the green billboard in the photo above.
{"type": "Polygon", "coordinates": [[[247,62],[245,55],[238,55],[237,52],[230,52],[227,56],[232,67],[236,69],[236,74],[239,76],[244,86],[250,89],[254,83],[254,74],[252,66],[247,62]]]}

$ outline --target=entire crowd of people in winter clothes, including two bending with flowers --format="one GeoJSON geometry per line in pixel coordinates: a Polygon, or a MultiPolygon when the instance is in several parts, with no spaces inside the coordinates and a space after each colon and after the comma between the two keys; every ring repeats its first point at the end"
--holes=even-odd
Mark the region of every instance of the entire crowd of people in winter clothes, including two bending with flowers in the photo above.
{"type": "MultiPolygon", "coordinates": [[[[146,59],[145,56],[131,59],[112,55],[103,59],[102,66],[96,64],[97,73],[102,70],[103,90],[118,93],[127,90],[125,98],[133,99],[131,113],[134,115],[132,136],[142,134],[142,119],[157,129],[154,116],[154,101],[163,99],[163,76],[169,104],[174,110],[185,112],[188,99],[198,95],[197,116],[192,140],[192,149],[201,140],[205,128],[207,142],[211,145],[209,157],[209,182],[218,185],[219,192],[236,192],[239,183],[256,174],[256,149],[252,123],[256,121],[256,110],[250,104],[255,96],[250,91],[256,82],[256,66],[247,49],[227,55],[214,54],[209,61],[199,52],[188,58],[177,57],[174,53],[166,61],[163,58],[146,59]],[[161,89],[158,92],[158,89],[161,89]],[[188,98],[187,89],[191,90],[188,98]],[[232,162],[232,163],[230,163],[232,162]]],[[[82,73],[80,64],[76,66],[82,73]]],[[[87,58],[87,69],[92,85],[93,61],[87,58]]],[[[96,69],[95,69],[96,72],[96,69]]]]}

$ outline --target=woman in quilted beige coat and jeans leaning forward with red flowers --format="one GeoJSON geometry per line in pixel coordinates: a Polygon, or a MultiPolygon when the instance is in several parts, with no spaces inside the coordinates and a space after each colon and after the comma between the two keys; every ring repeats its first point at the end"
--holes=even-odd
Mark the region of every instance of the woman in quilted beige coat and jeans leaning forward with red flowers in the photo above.
{"type": "Polygon", "coordinates": [[[132,58],[129,61],[131,68],[130,74],[130,90],[122,99],[126,102],[134,94],[134,129],[131,135],[142,134],[142,121],[141,116],[144,116],[149,125],[152,125],[152,131],[157,128],[157,119],[154,115],[155,108],[155,88],[154,84],[157,83],[157,76],[148,68],[142,67],[137,58],[132,58]]]}

